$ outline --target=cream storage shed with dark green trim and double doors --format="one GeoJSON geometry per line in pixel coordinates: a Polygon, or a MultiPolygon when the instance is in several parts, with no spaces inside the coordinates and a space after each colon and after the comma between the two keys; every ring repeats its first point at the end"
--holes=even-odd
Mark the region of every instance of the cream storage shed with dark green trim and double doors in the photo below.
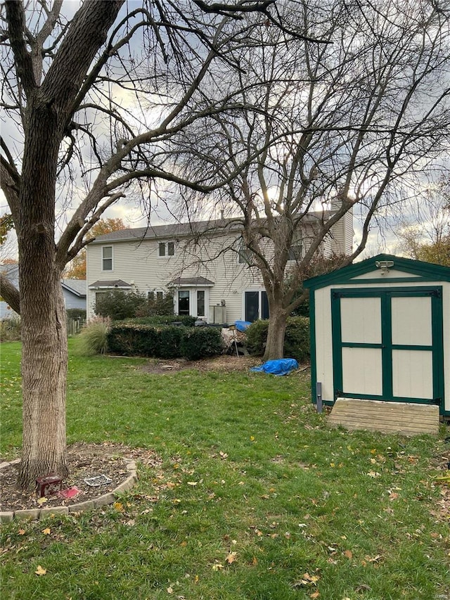
{"type": "Polygon", "coordinates": [[[314,403],[433,405],[450,419],[450,268],[382,254],[304,286],[314,403]]]}

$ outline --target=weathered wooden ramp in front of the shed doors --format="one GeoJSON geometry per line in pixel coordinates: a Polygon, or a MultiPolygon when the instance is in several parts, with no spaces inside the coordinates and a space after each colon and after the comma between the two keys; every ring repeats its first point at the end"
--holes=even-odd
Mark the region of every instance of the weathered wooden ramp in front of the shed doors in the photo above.
{"type": "Polygon", "coordinates": [[[346,429],[367,429],[381,433],[437,435],[439,407],[435,404],[338,398],[328,416],[328,423],[346,429]]]}

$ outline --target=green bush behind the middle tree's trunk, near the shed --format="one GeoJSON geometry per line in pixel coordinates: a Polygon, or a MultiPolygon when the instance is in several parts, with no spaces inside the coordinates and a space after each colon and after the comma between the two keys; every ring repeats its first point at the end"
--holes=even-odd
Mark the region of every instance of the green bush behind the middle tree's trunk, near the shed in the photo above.
{"type": "MultiPolygon", "coordinates": [[[[247,349],[252,355],[264,354],[269,321],[255,321],[245,331],[247,349]]],[[[288,317],[284,337],[284,355],[298,362],[309,359],[309,319],[307,317],[288,317]]]]}

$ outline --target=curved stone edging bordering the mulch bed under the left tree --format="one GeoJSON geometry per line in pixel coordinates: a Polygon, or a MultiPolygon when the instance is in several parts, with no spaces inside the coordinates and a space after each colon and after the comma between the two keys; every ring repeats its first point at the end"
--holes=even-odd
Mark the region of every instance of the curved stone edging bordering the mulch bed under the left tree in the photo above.
{"type": "MultiPolygon", "coordinates": [[[[9,523],[13,521],[13,519],[25,519],[28,518],[30,520],[37,520],[40,518],[44,518],[46,516],[50,516],[52,514],[63,514],[68,515],[69,513],[79,513],[82,511],[92,511],[94,509],[98,509],[101,506],[107,506],[108,504],[113,504],[115,499],[131,490],[131,487],[138,480],[138,475],[136,471],[136,461],[131,459],[125,459],[126,465],[125,468],[129,472],[128,477],[122,481],[112,492],[107,492],[106,494],[102,494],[97,498],[93,498],[91,500],[85,500],[84,502],[77,502],[77,504],[70,504],[69,506],[64,506],[61,504],[60,506],[49,506],[39,509],[23,509],[19,511],[0,511],[0,523],[9,523]]],[[[15,459],[14,461],[5,461],[0,464],[0,470],[2,468],[6,468],[8,466],[18,464],[20,459],[15,459]]]]}

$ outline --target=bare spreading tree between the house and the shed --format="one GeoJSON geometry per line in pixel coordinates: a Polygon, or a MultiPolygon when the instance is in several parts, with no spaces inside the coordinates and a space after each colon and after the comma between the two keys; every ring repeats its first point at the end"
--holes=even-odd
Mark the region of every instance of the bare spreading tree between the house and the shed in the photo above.
{"type": "Polygon", "coordinates": [[[269,300],[266,359],[283,355],[285,319],[336,225],[351,212],[361,221],[351,262],[373,219],[401,211],[450,149],[448,8],[428,0],[278,8],[304,39],[285,44],[281,30],[258,30],[240,50],[240,70],[222,78],[239,115],[211,115],[170,141],[186,177],[217,172],[226,181],[209,204],[186,193],[186,211],[220,208],[241,222],[269,300]]]}

